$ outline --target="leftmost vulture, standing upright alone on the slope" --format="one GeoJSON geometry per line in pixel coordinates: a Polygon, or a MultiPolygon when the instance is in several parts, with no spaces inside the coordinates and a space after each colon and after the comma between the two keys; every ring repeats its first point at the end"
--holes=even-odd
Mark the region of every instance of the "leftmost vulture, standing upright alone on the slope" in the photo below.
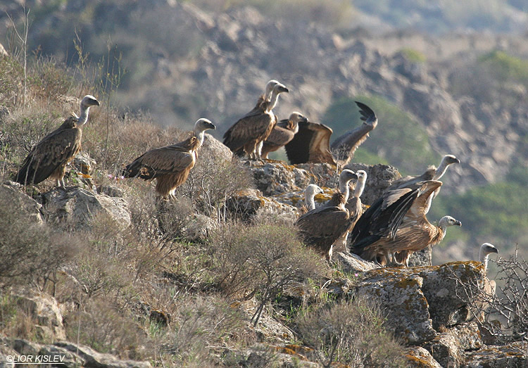
{"type": "Polygon", "coordinates": [[[66,165],[81,149],[81,128],[88,121],[92,106],[99,106],[99,101],[94,96],[84,96],[80,103],[80,116],[73,114],[34,146],[18,170],[15,182],[39,184],[51,177],[58,186],[64,187],[66,165]]]}

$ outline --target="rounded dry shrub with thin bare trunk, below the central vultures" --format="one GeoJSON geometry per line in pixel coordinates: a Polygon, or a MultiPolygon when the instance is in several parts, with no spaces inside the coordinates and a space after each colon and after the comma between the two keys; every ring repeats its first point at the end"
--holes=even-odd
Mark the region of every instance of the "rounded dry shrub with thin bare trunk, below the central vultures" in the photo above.
{"type": "Polygon", "coordinates": [[[284,288],[318,277],[324,266],[307,249],[291,224],[231,224],[213,236],[216,282],[226,296],[252,298],[260,304],[253,315],[258,323],[265,304],[284,288]]]}

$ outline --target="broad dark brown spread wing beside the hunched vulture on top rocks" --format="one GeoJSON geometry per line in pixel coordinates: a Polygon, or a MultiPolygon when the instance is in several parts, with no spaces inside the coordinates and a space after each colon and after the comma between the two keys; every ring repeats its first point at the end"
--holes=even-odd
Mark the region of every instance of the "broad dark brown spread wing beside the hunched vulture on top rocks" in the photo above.
{"type": "Polygon", "coordinates": [[[317,122],[299,122],[298,132],[289,144],[284,146],[291,164],[331,163],[335,160],[330,153],[332,129],[317,122]]]}

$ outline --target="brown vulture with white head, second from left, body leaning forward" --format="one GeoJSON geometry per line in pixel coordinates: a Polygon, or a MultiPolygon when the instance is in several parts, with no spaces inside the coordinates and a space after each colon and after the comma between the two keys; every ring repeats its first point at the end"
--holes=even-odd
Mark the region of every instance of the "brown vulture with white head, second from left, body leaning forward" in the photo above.
{"type": "Polygon", "coordinates": [[[197,120],[191,137],[177,144],[147,151],[122,169],[121,175],[144,180],[157,179],[156,192],[164,199],[174,198],[176,188],[187,180],[196,164],[198,148],[203,144],[204,132],[208,129],[215,129],[210,120],[197,120]]]}

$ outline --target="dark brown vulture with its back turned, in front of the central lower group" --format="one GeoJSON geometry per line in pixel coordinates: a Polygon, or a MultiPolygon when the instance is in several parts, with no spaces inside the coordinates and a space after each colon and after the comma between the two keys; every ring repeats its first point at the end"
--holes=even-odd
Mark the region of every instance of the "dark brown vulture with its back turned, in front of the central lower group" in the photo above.
{"type": "Polygon", "coordinates": [[[299,234],[308,246],[312,246],[318,253],[325,255],[327,260],[332,258],[332,245],[342,236],[350,226],[351,217],[345,208],[350,189],[348,183],[358,179],[352,170],[343,170],[339,175],[339,190],[332,199],[306,212],[298,218],[296,226],[299,234]]]}

